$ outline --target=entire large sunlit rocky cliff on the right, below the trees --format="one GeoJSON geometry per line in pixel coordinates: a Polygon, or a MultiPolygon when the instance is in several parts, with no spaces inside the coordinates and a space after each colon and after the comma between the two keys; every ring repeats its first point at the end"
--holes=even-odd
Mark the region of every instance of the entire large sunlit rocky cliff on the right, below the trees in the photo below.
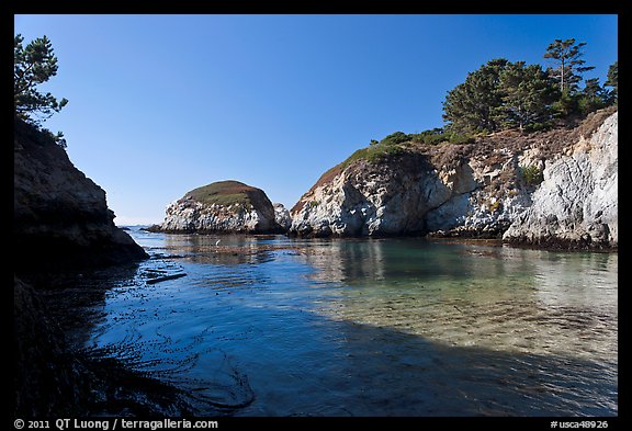
{"type": "MultiPolygon", "coordinates": [[[[291,211],[290,234],[500,238],[512,226],[510,232],[515,234],[507,235],[508,240],[534,242],[534,229],[542,226],[542,217],[534,209],[533,215],[528,215],[531,214],[528,211],[534,205],[542,212],[552,211],[541,202],[553,192],[543,190],[555,190],[565,196],[562,199],[565,202],[585,197],[585,193],[572,192],[583,190],[594,194],[587,204],[589,209],[584,211],[592,218],[582,216],[592,223],[591,235],[610,235],[605,229],[608,232],[614,229],[616,236],[616,227],[610,226],[616,226],[617,218],[616,186],[611,182],[617,172],[617,134],[612,133],[617,118],[610,110],[590,115],[575,128],[528,135],[507,131],[462,145],[407,141],[368,147],[323,174],[301,197],[291,211]],[[603,127],[610,132],[603,132],[603,127]],[[589,150],[592,147],[607,149],[589,150]],[[557,159],[568,148],[574,148],[576,169],[548,185],[551,177],[558,177],[551,172],[561,170],[555,166],[564,162],[557,159]],[[609,157],[608,161],[601,154],[609,157]],[[542,178],[545,181],[541,186],[542,178]],[[579,178],[583,182],[574,183],[579,178]],[[539,223],[529,222],[537,218],[539,223]],[[603,227],[606,219],[608,227],[603,227]],[[516,230],[519,224],[529,224],[533,230],[530,234],[516,230]]],[[[573,222],[575,218],[564,217],[565,214],[575,217],[578,211],[561,209],[557,214],[558,219],[565,220],[562,230],[549,229],[545,235],[557,235],[580,225],[573,222]]]]}

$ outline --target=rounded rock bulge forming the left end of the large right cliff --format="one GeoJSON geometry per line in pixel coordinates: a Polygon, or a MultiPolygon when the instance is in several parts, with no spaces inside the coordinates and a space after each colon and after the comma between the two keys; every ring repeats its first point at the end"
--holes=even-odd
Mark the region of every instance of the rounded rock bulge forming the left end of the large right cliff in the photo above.
{"type": "Polygon", "coordinates": [[[438,171],[420,154],[349,166],[292,209],[301,236],[390,236],[427,230],[425,215],[478,186],[467,165],[438,171]]]}

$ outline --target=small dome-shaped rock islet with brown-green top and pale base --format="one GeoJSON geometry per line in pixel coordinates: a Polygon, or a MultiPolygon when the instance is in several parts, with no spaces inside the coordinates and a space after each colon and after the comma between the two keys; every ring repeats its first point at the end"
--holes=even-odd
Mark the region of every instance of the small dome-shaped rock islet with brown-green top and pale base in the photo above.
{"type": "Polygon", "coordinates": [[[167,232],[275,234],[283,229],[266,193],[238,181],[219,181],[194,189],[170,204],[162,224],[167,232]]]}

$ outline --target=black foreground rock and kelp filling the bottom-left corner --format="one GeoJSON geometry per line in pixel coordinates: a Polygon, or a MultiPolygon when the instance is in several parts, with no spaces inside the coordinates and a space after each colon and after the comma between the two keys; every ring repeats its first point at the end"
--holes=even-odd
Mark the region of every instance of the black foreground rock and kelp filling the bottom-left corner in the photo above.
{"type": "MultiPolygon", "coordinates": [[[[97,352],[98,353],[98,352],[97,352]]],[[[195,413],[188,395],[68,342],[37,288],[13,283],[15,417],[195,413]]]]}

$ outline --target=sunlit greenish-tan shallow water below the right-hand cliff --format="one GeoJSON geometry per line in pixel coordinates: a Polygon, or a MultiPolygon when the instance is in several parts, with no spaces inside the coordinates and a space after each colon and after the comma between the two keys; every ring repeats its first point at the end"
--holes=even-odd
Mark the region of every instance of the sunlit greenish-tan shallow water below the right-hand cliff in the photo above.
{"type": "Polygon", "coordinates": [[[320,251],[302,256],[314,276],[349,287],[324,307],[335,318],[450,345],[616,361],[617,254],[420,240],[320,251]]]}

